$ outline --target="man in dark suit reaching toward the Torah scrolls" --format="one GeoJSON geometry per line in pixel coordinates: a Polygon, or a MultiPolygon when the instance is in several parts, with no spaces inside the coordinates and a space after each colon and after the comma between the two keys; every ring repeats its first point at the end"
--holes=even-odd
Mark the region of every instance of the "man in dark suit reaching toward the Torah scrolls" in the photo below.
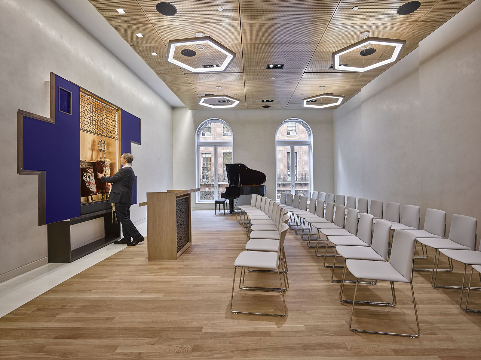
{"type": "Polygon", "coordinates": [[[120,157],[120,168],[114,176],[104,176],[105,173],[97,173],[97,177],[101,182],[111,182],[112,190],[110,191],[109,201],[115,204],[115,213],[117,219],[122,224],[122,234],[124,237],[114,241],[114,244],[127,244],[127,246],[135,246],[144,240],[139,230],[130,220],[130,205],[132,204],[132,185],[135,181],[134,170],[132,169],[132,161],[134,156],[130,153],[124,153],[120,157]]]}

